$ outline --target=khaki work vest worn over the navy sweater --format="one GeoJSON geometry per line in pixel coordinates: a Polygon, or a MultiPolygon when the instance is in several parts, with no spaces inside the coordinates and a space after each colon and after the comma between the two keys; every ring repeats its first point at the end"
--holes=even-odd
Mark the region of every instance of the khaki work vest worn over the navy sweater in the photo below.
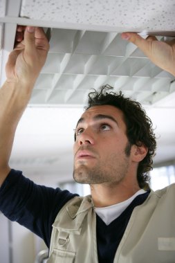
{"type": "MultiPolygon", "coordinates": [[[[113,262],[175,262],[175,184],[151,191],[147,200],[134,208],[113,262]]],[[[48,263],[98,263],[91,196],[75,197],[59,211],[48,263]]]]}

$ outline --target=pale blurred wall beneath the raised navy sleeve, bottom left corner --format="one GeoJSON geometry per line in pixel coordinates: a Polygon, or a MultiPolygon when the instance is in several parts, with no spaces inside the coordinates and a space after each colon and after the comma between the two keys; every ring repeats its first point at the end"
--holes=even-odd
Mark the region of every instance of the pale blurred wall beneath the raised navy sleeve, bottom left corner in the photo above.
{"type": "Polygon", "coordinates": [[[36,235],[0,214],[0,262],[34,263],[46,245],[36,235]]]}

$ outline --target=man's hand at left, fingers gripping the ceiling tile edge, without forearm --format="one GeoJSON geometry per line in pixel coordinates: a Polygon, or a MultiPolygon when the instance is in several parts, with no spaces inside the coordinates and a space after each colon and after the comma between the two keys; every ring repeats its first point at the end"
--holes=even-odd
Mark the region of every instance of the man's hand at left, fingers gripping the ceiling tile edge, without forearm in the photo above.
{"type": "Polygon", "coordinates": [[[6,64],[7,82],[32,86],[46,61],[48,39],[42,28],[18,26],[16,43],[6,64]]]}

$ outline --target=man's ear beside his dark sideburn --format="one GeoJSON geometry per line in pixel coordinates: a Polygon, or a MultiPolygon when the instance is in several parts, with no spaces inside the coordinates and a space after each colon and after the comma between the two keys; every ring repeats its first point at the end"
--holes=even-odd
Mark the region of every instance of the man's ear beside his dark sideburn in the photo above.
{"type": "Polygon", "coordinates": [[[147,155],[148,148],[141,142],[138,145],[132,145],[131,153],[132,153],[132,160],[136,163],[142,161],[145,156],[147,155]]]}

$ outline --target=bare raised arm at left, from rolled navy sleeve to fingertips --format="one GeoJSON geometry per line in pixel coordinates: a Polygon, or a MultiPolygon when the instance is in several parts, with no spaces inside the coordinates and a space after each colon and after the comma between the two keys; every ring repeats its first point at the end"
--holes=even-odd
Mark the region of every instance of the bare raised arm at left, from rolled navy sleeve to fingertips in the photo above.
{"type": "Polygon", "coordinates": [[[17,30],[15,49],[6,64],[7,80],[0,89],[0,185],[10,172],[8,165],[17,124],[48,53],[48,40],[42,28],[17,30]],[[21,36],[24,35],[21,38],[21,36]]]}

